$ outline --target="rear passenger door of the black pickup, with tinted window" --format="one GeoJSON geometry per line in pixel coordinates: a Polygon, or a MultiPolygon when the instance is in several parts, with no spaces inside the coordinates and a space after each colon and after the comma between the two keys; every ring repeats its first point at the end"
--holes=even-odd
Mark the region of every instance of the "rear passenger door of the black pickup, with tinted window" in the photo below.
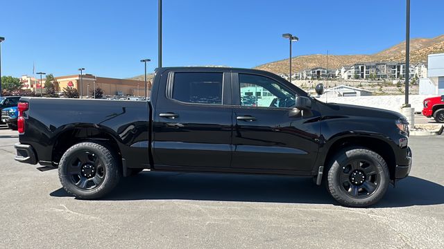
{"type": "Polygon", "coordinates": [[[230,167],[230,72],[185,69],[164,74],[153,113],[155,167],[230,167]]]}

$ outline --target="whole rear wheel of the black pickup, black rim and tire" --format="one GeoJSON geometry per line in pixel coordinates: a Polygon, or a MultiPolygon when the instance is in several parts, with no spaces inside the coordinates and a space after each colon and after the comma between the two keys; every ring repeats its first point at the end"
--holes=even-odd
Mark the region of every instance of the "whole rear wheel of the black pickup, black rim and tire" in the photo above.
{"type": "Polygon", "coordinates": [[[58,174],[63,188],[80,199],[98,199],[119,183],[119,164],[112,152],[94,142],[70,147],[60,160],[58,174]]]}

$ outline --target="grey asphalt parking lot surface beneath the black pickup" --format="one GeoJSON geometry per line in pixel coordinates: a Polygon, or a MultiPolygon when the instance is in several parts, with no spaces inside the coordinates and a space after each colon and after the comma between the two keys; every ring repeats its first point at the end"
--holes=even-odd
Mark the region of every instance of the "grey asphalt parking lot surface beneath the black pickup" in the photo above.
{"type": "Polygon", "coordinates": [[[443,139],[412,137],[411,176],[359,209],[310,178],[237,174],[142,172],[81,201],[0,129],[0,248],[444,248],[443,139]]]}

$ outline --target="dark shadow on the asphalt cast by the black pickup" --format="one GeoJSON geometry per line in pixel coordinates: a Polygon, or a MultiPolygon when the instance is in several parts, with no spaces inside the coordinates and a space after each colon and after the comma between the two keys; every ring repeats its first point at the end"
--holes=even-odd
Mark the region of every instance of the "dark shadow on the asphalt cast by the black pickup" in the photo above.
{"type": "MultiPolygon", "coordinates": [[[[373,208],[444,203],[444,187],[410,176],[389,187],[382,201],[373,208]]],[[[51,196],[70,196],[62,188],[51,196]]],[[[317,203],[339,205],[325,187],[311,178],[256,176],[239,174],[182,174],[142,172],[124,178],[103,201],[133,200],[246,201],[270,203],[317,203]]]]}

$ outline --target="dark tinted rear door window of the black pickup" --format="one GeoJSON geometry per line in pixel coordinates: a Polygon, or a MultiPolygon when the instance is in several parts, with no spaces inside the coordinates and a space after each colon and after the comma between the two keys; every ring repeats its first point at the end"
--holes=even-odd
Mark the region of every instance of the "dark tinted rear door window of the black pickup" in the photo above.
{"type": "Polygon", "coordinates": [[[174,100],[195,104],[222,104],[223,73],[174,73],[174,100]]]}

